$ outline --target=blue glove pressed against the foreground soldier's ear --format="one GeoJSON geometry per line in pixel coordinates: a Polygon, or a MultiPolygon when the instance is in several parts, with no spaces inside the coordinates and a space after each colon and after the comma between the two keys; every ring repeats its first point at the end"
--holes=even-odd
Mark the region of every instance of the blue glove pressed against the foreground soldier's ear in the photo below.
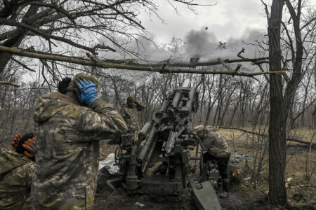
{"type": "Polygon", "coordinates": [[[93,102],[93,100],[97,98],[96,85],[90,80],[86,80],[83,78],[77,79],[76,82],[80,90],[80,95],[77,96],[79,102],[89,106],[91,102],[93,102]]]}

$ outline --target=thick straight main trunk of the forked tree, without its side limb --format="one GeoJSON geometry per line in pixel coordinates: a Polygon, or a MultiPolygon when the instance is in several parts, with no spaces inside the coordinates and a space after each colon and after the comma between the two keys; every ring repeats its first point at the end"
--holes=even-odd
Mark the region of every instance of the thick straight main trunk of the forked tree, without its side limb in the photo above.
{"type": "MultiPolygon", "coordinates": [[[[273,0],[271,16],[268,22],[269,71],[281,68],[280,28],[284,1],[273,0]]],[[[286,135],[280,74],[270,76],[270,125],[269,125],[269,201],[274,204],[287,203],[287,190],[284,183],[286,167],[286,135]]]]}

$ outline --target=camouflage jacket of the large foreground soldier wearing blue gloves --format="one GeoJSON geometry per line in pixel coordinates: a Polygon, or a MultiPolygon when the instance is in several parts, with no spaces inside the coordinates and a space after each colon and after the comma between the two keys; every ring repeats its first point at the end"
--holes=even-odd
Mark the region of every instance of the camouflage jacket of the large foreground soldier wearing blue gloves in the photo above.
{"type": "Polygon", "coordinates": [[[40,97],[34,110],[37,167],[34,209],[91,209],[99,141],[126,132],[119,113],[102,99],[80,106],[58,92],[40,97]]]}

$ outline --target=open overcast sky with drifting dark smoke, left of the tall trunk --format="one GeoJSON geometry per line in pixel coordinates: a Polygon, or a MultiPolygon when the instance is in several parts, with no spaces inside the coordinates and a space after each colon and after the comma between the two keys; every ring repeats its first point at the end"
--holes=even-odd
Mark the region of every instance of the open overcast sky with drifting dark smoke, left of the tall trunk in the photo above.
{"type": "MultiPolygon", "coordinates": [[[[176,6],[178,10],[178,13],[176,13],[167,0],[159,0],[156,1],[159,4],[158,14],[164,22],[154,15],[149,18],[147,13],[140,14],[140,20],[142,20],[142,25],[147,31],[152,33],[152,38],[158,45],[168,43],[173,36],[182,38],[186,43],[189,42],[190,49],[185,50],[185,59],[192,56],[204,57],[206,60],[217,57],[232,58],[236,57],[243,47],[246,48],[244,55],[256,56],[256,48],[245,45],[243,42],[254,43],[254,40],[260,39],[259,36],[267,34],[267,18],[261,0],[198,1],[215,5],[195,6],[196,14],[188,9],[185,4],[174,3],[173,6],[176,6]],[[216,51],[218,41],[226,42],[229,49],[223,52],[216,51]],[[193,48],[194,52],[190,53],[192,46],[195,46],[196,50],[193,48]],[[199,53],[196,53],[197,51],[199,53]]],[[[263,1],[268,6],[272,3],[272,0],[263,1]]],[[[313,6],[316,5],[316,0],[310,0],[309,2],[313,6]]],[[[284,9],[286,8],[284,6],[284,9]]],[[[266,36],[263,38],[266,38],[266,36]]],[[[148,48],[152,52],[152,55],[150,55],[152,60],[168,59],[169,55],[167,55],[166,50],[162,48],[154,50],[152,46],[148,48]]]]}

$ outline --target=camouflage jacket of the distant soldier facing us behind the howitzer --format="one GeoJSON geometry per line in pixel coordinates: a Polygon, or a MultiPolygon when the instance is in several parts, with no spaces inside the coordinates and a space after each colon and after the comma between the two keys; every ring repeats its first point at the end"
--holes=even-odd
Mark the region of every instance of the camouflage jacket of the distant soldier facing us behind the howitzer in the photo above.
{"type": "Polygon", "coordinates": [[[126,125],[129,127],[129,130],[139,130],[140,122],[138,120],[138,111],[145,109],[145,106],[142,102],[135,102],[135,106],[131,107],[127,104],[121,106],[121,116],[124,118],[126,125]]]}

